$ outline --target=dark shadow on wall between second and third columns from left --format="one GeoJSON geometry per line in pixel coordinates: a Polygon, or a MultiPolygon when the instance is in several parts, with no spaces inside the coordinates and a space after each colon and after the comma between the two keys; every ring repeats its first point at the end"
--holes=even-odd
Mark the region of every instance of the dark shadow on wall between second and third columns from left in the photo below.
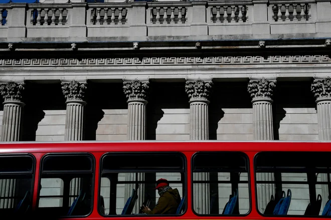
{"type": "Polygon", "coordinates": [[[88,82],[84,140],[96,140],[98,123],[107,109],[127,109],[123,83],[88,82]]]}

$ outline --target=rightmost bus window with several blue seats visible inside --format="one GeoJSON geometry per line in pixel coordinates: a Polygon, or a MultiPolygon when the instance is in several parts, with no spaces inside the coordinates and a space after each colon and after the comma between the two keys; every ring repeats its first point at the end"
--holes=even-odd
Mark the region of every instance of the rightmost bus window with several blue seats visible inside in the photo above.
{"type": "Polygon", "coordinates": [[[331,189],[330,156],[329,152],[256,154],[258,211],[280,216],[321,215],[331,189]]]}

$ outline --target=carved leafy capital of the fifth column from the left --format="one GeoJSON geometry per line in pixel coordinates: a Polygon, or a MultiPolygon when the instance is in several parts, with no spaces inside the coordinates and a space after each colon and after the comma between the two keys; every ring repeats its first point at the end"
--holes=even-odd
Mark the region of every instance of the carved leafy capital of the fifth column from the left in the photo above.
{"type": "Polygon", "coordinates": [[[252,102],[257,100],[271,100],[272,92],[276,87],[276,79],[260,79],[251,78],[248,82],[248,92],[252,98],[252,102]]]}

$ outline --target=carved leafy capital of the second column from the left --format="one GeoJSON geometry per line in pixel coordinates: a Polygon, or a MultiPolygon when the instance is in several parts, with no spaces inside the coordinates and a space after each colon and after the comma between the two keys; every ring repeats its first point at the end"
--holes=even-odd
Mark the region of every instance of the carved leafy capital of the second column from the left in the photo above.
{"type": "Polygon", "coordinates": [[[62,92],[67,100],[67,102],[84,102],[85,91],[86,91],[86,81],[77,80],[62,80],[62,92]]]}

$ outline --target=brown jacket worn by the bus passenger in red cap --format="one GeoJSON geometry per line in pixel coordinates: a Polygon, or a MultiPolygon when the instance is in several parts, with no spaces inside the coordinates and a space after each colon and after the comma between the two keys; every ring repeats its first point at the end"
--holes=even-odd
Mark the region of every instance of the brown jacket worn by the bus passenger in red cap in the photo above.
{"type": "Polygon", "coordinates": [[[146,214],[176,214],[181,203],[181,196],[177,188],[164,192],[157,201],[153,210],[148,210],[146,214]]]}

